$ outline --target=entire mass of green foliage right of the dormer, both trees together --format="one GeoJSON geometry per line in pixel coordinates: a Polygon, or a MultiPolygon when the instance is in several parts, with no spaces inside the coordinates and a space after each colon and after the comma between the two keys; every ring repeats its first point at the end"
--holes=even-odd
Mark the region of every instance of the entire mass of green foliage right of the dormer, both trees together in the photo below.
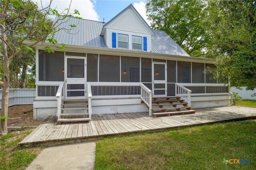
{"type": "Polygon", "coordinates": [[[218,81],[256,88],[255,0],[149,0],[146,9],[188,54],[217,59],[218,81]]]}

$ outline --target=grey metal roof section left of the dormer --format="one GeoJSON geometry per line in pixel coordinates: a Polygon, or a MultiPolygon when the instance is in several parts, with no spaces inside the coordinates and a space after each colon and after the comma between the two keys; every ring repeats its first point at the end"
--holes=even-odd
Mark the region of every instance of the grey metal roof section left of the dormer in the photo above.
{"type": "Polygon", "coordinates": [[[103,22],[66,17],[62,23],[60,28],[70,30],[60,30],[56,33],[55,39],[58,43],[107,48],[104,37],[100,36],[103,22]],[[76,27],[71,28],[72,24],[76,27]]]}

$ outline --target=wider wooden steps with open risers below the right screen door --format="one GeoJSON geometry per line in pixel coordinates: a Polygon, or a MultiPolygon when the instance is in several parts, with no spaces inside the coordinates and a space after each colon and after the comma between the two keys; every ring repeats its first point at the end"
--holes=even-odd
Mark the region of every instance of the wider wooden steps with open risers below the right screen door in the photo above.
{"type": "Polygon", "coordinates": [[[196,113],[181,97],[152,97],[152,116],[196,113]]]}

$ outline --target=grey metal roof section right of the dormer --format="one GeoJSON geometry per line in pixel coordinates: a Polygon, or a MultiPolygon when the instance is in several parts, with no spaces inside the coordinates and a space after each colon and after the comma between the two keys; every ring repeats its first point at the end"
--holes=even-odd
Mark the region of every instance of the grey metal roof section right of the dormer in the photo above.
{"type": "Polygon", "coordinates": [[[151,38],[151,52],[170,55],[190,56],[180,45],[178,45],[166,32],[153,30],[151,38]]]}

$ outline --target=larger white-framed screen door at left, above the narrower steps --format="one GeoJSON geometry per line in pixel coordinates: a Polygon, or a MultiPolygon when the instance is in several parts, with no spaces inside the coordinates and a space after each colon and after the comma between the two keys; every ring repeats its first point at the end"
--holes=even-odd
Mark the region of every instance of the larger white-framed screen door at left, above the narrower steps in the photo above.
{"type": "Polygon", "coordinates": [[[65,57],[66,99],[86,99],[85,57],[65,57]]]}

